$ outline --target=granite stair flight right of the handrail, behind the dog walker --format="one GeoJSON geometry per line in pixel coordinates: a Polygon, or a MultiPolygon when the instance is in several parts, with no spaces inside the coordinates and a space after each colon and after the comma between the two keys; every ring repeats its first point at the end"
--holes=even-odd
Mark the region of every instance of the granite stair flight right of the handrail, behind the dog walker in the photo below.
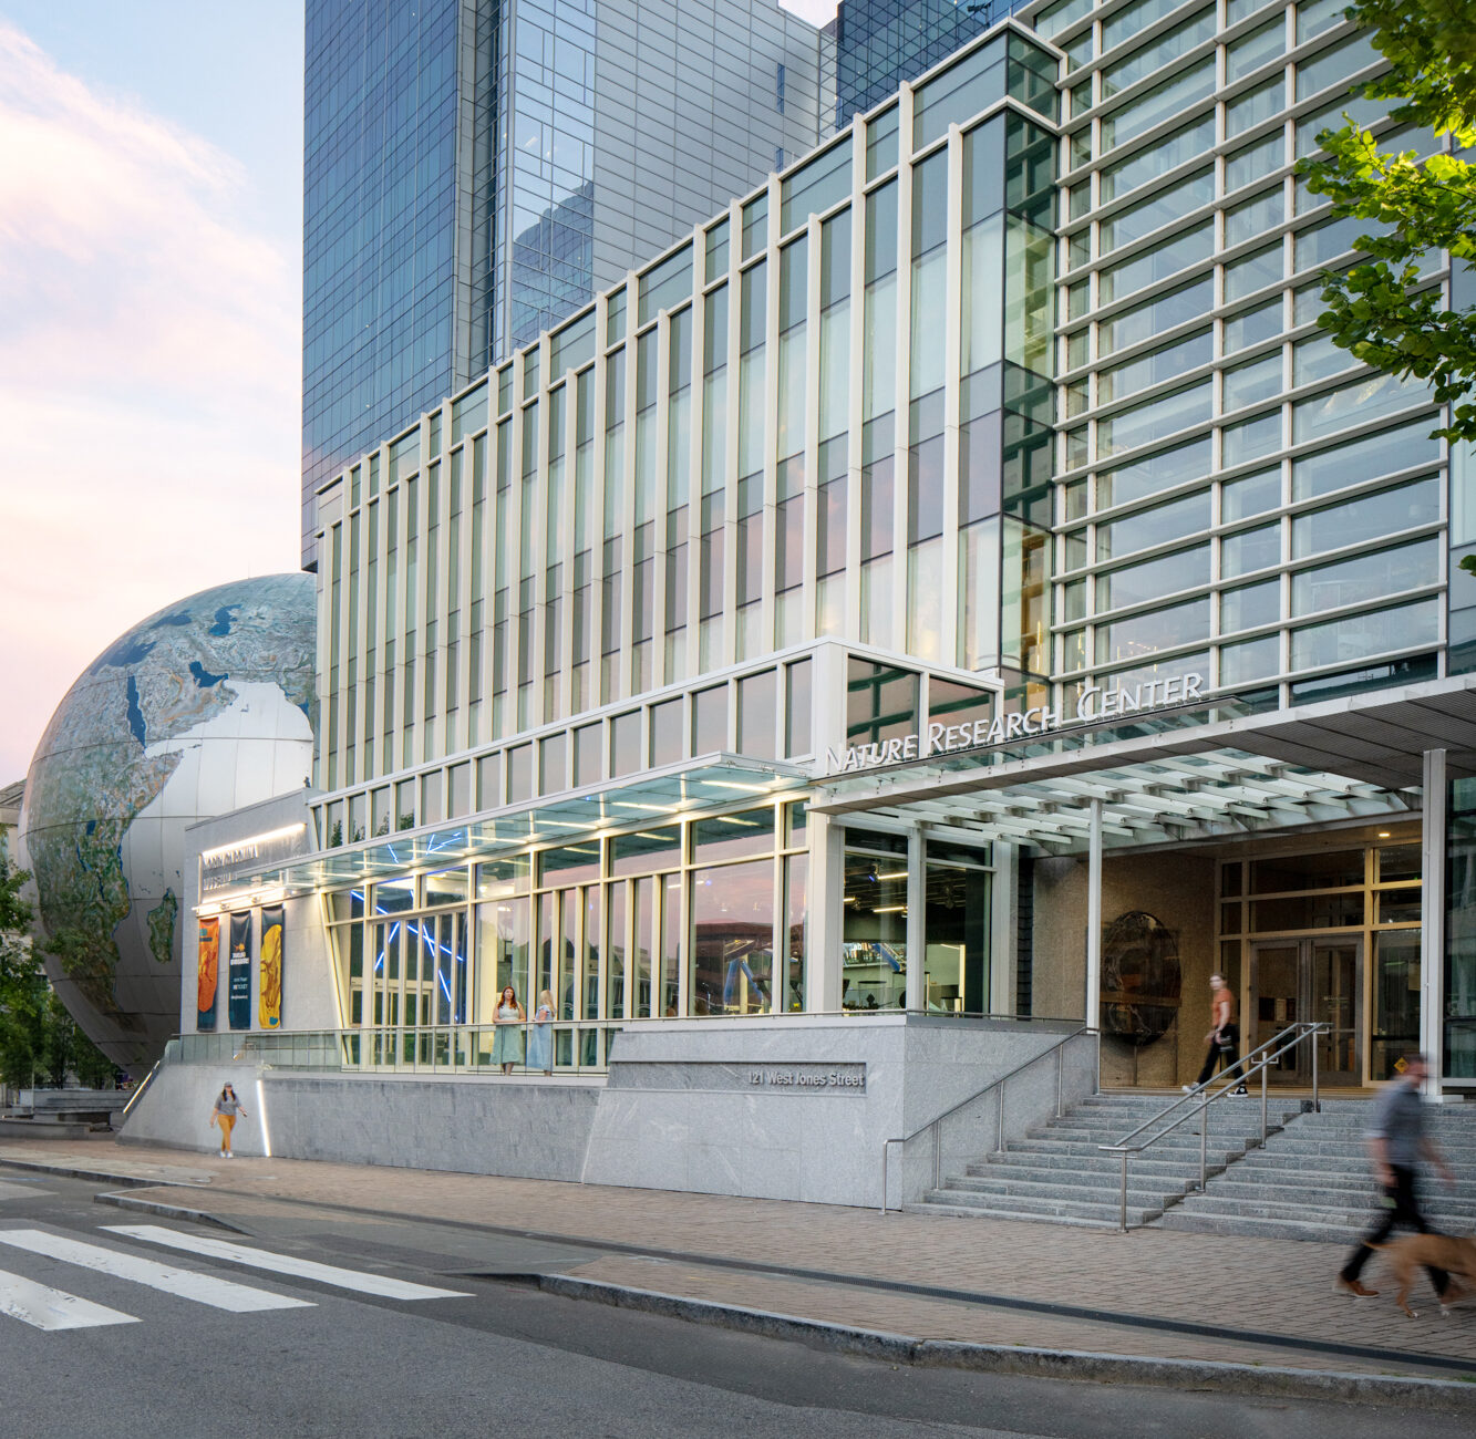
{"type": "MultiPolygon", "coordinates": [[[[1352,1243],[1377,1201],[1364,1142],[1368,1108],[1368,1101],[1324,1100],[1321,1114],[1297,1114],[1265,1148],[1165,1213],[1162,1226],[1352,1243]]],[[[1430,1105],[1426,1132],[1455,1172],[1455,1188],[1421,1173],[1421,1209],[1436,1229],[1476,1234],[1476,1104],[1430,1105]]]]}

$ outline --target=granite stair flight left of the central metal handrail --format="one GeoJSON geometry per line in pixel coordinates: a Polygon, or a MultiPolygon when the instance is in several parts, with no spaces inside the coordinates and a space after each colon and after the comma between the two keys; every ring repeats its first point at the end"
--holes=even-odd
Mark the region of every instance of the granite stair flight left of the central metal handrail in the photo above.
{"type": "MultiPolygon", "coordinates": [[[[1046,1224],[1111,1225],[1120,1215],[1122,1160],[1098,1145],[1123,1135],[1172,1102],[1162,1094],[1095,1094],[1011,1139],[1004,1154],[987,1154],[961,1175],[949,1175],[914,1213],[1039,1219],[1046,1224]]],[[[1300,1100],[1272,1100],[1268,1123],[1280,1128],[1300,1111],[1300,1100]]],[[[1176,1117],[1176,1116],[1175,1116],[1176,1117]]],[[[1261,1097],[1221,1100],[1209,1110],[1209,1172],[1241,1160],[1261,1144],[1261,1097]]],[[[1147,1224],[1199,1187],[1199,1120],[1185,1120],[1128,1166],[1128,1222],[1147,1224]]],[[[1243,1163],[1243,1160],[1241,1160],[1243,1163]]],[[[1238,1166],[1237,1166],[1238,1167],[1238,1166]]],[[[1170,1210],[1173,1212],[1173,1210],[1170,1210]]]]}

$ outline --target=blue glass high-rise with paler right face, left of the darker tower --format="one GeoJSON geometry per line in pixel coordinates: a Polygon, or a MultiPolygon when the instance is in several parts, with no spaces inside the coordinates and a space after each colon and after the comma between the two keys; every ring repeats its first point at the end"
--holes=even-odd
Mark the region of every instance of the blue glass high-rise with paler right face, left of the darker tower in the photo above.
{"type": "Polygon", "coordinates": [[[816,142],[818,49],[776,0],[310,0],[306,564],[345,460],[816,142]]]}

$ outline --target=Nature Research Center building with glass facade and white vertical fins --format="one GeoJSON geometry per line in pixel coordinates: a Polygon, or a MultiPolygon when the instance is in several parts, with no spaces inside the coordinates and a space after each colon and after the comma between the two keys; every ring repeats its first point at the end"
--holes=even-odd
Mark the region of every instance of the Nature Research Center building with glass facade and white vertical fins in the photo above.
{"type": "Polygon", "coordinates": [[[1057,1102],[1193,1080],[1215,971],[1320,1024],[1274,1085],[1476,1092],[1470,456],[1293,170],[1379,63],[1027,6],[325,483],[317,787],[187,896],[246,993],[282,906],[279,1032],[190,981],[174,1057],[295,1153],[465,1080],[583,1148],[387,1162],[850,1203],[1066,1038],[1057,1102]]]}

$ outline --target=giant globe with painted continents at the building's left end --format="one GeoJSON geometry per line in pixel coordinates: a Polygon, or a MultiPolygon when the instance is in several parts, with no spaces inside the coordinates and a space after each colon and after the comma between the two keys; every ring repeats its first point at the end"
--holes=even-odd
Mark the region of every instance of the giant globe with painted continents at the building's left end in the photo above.
{"type": "Polygon", "coordinates": [[[46,968],[117,1064],[179,1030],[184,831],[311,775],[314,643],[308,574],[202,590],[109,645],[41,736],[21,844],[46,968]]]}

